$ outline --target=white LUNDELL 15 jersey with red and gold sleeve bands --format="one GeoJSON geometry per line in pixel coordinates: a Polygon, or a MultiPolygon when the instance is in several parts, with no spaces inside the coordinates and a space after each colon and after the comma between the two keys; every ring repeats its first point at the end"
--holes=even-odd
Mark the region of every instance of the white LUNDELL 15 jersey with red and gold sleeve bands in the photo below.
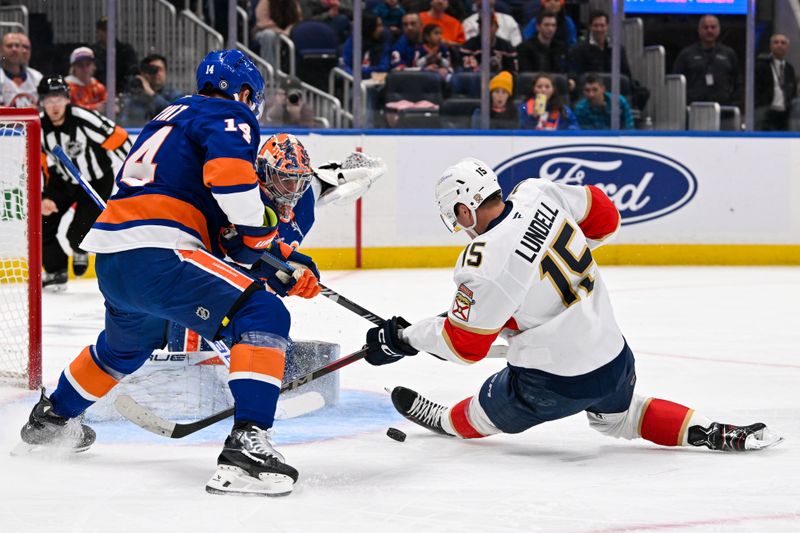
{"type": "Polygon", "coordinates": [[[403,337],[418,350],[468,364],[485,357],[502,332],[513,366],[559,376],[603,366],[624,340],[591,250],[619,222],[597,187],[521,182],[502,220],[459,256],[447,317],[417,322],[403,337]]]}

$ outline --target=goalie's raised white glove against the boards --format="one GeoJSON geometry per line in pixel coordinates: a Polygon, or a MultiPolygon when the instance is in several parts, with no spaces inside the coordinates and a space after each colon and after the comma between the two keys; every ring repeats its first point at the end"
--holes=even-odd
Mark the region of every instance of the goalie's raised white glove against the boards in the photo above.
{"type": "Polygon", "coordinates": [[[378,157],[353,152],[344,161],[328,161],[317,167],[318,205],[346,205],[366,193],[386,173],[386,163],[378,157]]]}

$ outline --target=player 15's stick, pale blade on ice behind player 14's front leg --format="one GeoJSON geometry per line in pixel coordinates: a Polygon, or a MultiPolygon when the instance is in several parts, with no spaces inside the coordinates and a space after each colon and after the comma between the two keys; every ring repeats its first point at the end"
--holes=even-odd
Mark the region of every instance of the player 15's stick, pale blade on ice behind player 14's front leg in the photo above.
{"type": "MultiPolygon", "coordinates": [[[[315,379],[319,379],[322,376],[326,376],[331,372],[335,372],[340,368],[355,363],[359,359],[363,359],[366,355],[367,350],[362,348],[357,352],[346,355],[340,359],[337,359],[336,361],[332,361],[317,368],[316,370],[312,370],[304,376],[300,376],[299,378],[289,381],[288,383],[284,383],[283,386],[281,386],[281,392],[283,393],[301,387],[306,383],[310,383],[315,379]]],[[[226,418],[233,416],[235,412],[235,408],[231,407],[201,420],[190,422],[188,424],[180,424],[178,422],[172,422],[170,420],[161,418],[149,409],[136,403],[136,400],[130,396],[122,395],[117,397],[114,405],[122,416],[137,426],[144,428],[151,433],[155,433],[156,435],[161,435],[162,437],[169,437],[172,439],[180,439],[187,435],[191,435],[192,433],[207,428],[212,424],[216,424],[220,420],[225,420],[226,418]]]]}

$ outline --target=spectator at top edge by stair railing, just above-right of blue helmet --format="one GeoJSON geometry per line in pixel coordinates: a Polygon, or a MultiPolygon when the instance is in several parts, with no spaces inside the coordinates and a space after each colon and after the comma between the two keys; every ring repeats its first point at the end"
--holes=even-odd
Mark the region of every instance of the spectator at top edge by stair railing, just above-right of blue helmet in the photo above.
{"type": "Polygon", "coordinates": [[[303,20],[300,3],[298,0],[258,0],[255,15],[253,32],[259,54],[275,70],[281,70],[280,36],[288,36],[292,26],[303,20]]]}

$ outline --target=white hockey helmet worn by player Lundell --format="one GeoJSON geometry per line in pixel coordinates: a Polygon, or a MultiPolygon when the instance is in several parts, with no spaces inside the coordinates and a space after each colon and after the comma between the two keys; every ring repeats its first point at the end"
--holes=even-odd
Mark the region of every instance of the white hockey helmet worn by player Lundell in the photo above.
{"type": "Polygon", "coordinates": [[[448,167],[436,183],[436,202],[442,222],[451,232],[475,227],[478,217],[475,210],[484,200],[500,190],[497,175],[491,167],[474,157],[462,159],[448,167]],[[464,204],[472,214],[472,225],[464,227],[456,218],[456,205],[464,204]]]}

